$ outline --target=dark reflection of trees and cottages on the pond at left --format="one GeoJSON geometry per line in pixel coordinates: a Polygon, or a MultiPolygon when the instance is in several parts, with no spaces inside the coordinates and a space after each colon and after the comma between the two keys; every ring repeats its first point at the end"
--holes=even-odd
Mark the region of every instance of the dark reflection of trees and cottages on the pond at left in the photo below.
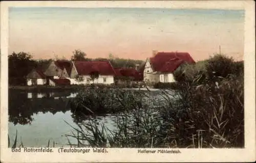
{"type": "Polygon", "coordinates": [[[9,92],[9,122],[16,124],[31,124],[33,115],[41,112],[65,113],[70,110],[69,97],[75,94],[70,92],[9,92]]]}

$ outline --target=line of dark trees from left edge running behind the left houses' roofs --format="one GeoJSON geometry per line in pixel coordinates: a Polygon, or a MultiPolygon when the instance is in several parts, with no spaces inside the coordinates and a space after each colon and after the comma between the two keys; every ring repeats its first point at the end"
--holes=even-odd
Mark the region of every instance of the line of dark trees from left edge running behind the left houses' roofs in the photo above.
{"type": "MultiPolygon", "coordinates": [[[[8,55],[8,77],[9,77],[9,85],[26,85],[26,76],[33,68],[38,68],[45,70],[48,65],[53,60],[66,60],[59,59],[56,56],[53,56],[52,59],[47,60],[35,60],[32,55],[28,52],[12,52],[11,55],[8,55]]],[[[74,50],[71,56],[71,61],[110,61],[114,68],[116,67],[125,67],[131,68],[135,67],[136,64],[140,66],[143,64],[141,60],[131,60],[131,59],[121,59],[118,57],[114,57],[113,55],[109,55],[109,58],[88,58],[87,54],[81,50],[74,50]]],[[[70,61],[69,60],[69,61],[70,61]]]]}

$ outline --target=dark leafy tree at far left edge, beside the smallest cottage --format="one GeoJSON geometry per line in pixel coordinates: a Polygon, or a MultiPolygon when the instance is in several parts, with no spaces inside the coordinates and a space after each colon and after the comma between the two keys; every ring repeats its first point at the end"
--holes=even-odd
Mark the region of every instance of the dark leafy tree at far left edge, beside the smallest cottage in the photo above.
{"type": "Polygon", "coordinates": [[[26,76],[36,67],[36,61],[32,59],[32,55],[26,52],[12,52],[8,56],[9,84],[26,85],[26,76]]]}

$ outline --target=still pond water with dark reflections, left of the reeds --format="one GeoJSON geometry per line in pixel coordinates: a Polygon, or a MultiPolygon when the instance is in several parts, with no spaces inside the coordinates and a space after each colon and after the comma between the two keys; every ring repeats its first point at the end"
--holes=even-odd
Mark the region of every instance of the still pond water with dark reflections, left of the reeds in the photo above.
{"type": "MultiPolygon", "coordinates": [[[[13,145],[17,130],[17,144],[25,147],[70,147],[66,134],[72,134],[71,126],[77,127],[86,118],[77,118],[70,111],[69,100],[76,92],[28,92],[9,90],[8,134],[13,145]],[[66,122],[68,123],[66,123],[66,122]],[[71,125],[71,126],[70,126],[71,125]]],[[[115,115],[98,116],[99,123],[113,129],[115,115]]],[[[77,144],[76,139],[69,137],[77,144]]]]}

